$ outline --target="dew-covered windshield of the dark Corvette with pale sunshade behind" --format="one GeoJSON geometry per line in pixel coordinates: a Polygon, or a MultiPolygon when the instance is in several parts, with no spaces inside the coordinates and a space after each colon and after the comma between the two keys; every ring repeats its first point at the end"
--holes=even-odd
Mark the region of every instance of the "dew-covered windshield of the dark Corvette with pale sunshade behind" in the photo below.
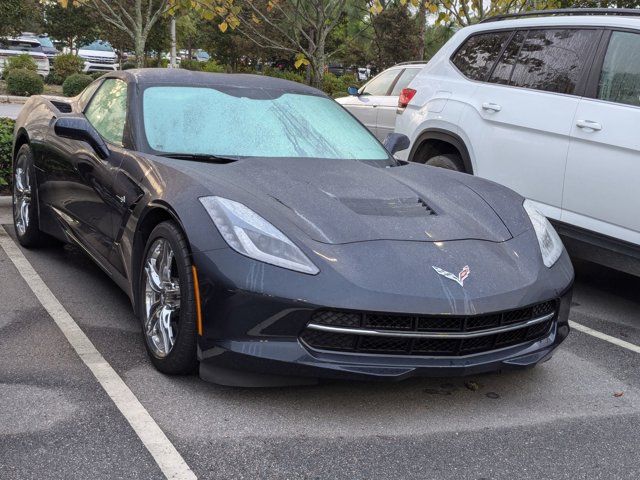
{"type": "Polygon", "coordinates": [[[160,153],[218,157],[389,160],[369,131],[333,100],[240,87],[149,87],[149,146],[160,153]]]}

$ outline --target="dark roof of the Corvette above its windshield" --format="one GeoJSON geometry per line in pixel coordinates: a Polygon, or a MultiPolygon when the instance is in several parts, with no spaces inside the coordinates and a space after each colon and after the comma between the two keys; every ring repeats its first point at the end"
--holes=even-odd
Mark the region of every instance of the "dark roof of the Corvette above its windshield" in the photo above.
{"type": "Polygon", "coordinates": [[[283,80],[266,75],[245,73],[208,73],[195,72],[182,68],[141,68],[108,73],[106,77],[123,78],[142,86],[151,85],[194,85],[194,86],[227,86],[244,88],[264,88],[284,90],[292,93],[323,95],[320,90],[302,83],[283,80]]]}

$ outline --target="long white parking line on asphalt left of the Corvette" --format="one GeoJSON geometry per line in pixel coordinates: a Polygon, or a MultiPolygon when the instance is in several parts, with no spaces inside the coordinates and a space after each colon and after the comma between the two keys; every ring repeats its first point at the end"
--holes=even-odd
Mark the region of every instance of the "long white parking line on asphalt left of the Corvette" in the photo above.
{"type": "Polygon", "coordinates": [[[169,479],[195,479],[195,474],[151,415],[149,415],[149,412],[91,343],[91,340],[49,290],[49,287],[31,266],[20,248],[1,226],[0,247],[13,262],[31,291],[53,318],[56,325],[58,325],[58,328],[67,337],[80,359],[89,367],[98,383],[127,419],[144,446],[153,456],[162,473],[169,479]]]}

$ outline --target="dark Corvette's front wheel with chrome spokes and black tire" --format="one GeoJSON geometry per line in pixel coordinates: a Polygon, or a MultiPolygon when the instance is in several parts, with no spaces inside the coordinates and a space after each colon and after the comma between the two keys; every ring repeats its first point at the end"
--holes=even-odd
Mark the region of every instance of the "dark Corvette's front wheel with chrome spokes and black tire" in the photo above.
{"type": "Polygon", "coordinates": [[[187,241],[173,222],[156,226],[144,250],[138,305],[153,365],[170,375],[195,370],[196,306],[187,241]]]}

